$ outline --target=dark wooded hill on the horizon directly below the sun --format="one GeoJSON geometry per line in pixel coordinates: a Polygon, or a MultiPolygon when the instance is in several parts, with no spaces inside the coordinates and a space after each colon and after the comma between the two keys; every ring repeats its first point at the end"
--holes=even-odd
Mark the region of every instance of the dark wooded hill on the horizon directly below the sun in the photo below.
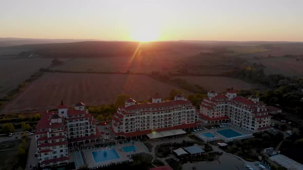
{"type": "Polygon", "coordinates": [[[177,42],[130,42],[130,41],[83,41],[54,44],[34,44],[15,46],[30,52],[51,58],[88,58],[88,57],[123,57],[137,52],[167,52],[182,49],[202,49],[203,45],[177,42]]]}

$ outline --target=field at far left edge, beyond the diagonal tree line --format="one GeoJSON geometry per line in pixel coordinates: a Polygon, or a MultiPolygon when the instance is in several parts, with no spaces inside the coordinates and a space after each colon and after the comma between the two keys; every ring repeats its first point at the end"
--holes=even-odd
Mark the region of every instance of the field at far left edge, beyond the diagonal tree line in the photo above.
{"type": "Polygon", "coordinates": [[[49,58],[0,59],[0,98],[26,80],[40,68],[50,65],[49,58]]]}

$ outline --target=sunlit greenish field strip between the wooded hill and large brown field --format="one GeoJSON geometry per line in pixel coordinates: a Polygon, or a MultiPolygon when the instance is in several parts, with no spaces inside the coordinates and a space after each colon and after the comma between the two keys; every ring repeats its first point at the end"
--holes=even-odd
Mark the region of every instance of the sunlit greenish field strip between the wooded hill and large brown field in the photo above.
{"type": "MultiPolygon", "coordinates": [[[[135,57],[74,58],[53,70],[85,72],[151,73],[175,72],[180,58],[199,53],[199,50],[176,50],[168,52],[149,52],[135,57]]],[[[61,60],[61,59],[60,59],[61,60]]]]}

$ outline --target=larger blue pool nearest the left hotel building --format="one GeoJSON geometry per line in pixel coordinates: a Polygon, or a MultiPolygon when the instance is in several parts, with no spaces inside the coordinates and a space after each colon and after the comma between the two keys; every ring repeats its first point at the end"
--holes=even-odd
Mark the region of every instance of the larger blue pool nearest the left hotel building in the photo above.
{"type": "Polygon", "coordinates": [[[115,148],[91,152],[91,154],[94,159],[94,162],[96,163],[120,158],[115,148]]]}

